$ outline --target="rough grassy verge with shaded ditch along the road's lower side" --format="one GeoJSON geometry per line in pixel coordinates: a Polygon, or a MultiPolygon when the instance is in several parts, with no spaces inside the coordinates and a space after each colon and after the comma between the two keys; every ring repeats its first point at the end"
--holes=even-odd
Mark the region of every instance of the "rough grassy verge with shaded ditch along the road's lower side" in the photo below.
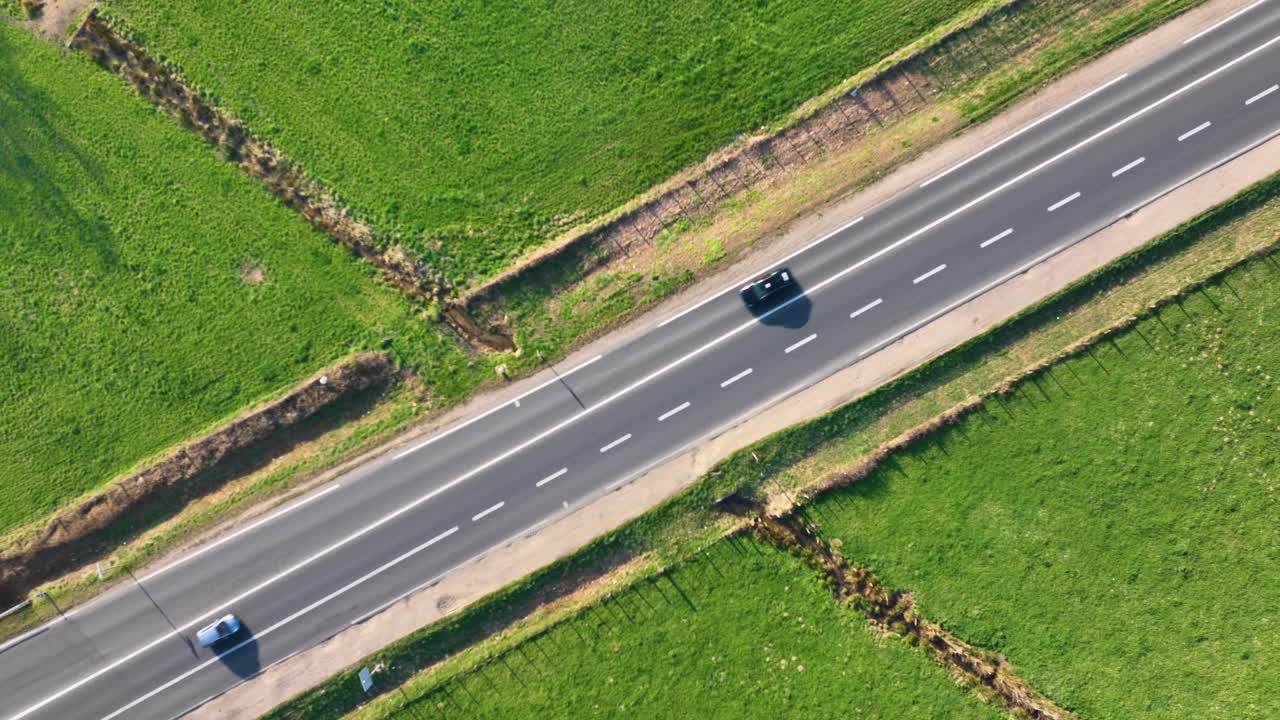
{"type": "MultiPolygon", "coordinates": [[[[1251,254],[1272,246],[1277,228],[1280,177],[1274,177],[901,379],[827,416],[778,433],[731,456],[698,484],[659,509],[457,616],[415,633],[367,659],[367,664],[381,664],[389,669],[384,675],[388,684],[381,685],[385,689],[415,669],[430,667],[448,656],[472,652],[492,655],[492,644],[483,644],[481,641],[495,628],[524,618],[529,612],[529,598],[547,592],[582,564],[608,562],[609,557],[637,555],[646,555],[659,565],[678,564],[712,544],[726,529],[730,520],[712,509],[712,502],[721,495],[736,488],[756,488],[763,495],[781,489],[795,493],[813,487],[835,471],[858,465],[870,451],[965,398],[991,392],[1027,368],[1061,356],[1082,338],[1144,314],[1153,301],[1192,287],[1202,278],[1235,266],[1251,254]],[[472,643],[481,644],[467,650],[472,643]]],[[[1275,274],[1276,270],[1270,269],[1272,266],[1272,260],[1258,260],[1242,272],[1245,277],[1254,278],[1252,283],[1256,290],[1265,287],[1263,278],[1275,274]]],[[[1229,278],[1226,282],[1229,284],[1211,291],[1215,292],[1215,299],[1220,293],[1230,293],[1228,288],[1239,288],[1239,281],[1229,278]]],[[[1244,293],[1243,290],[1240,292],[1244,293]]],[[[1176,311],[1166,309],[1162,313],[1176,311]]],[[[1238,322],[1242,323],[1265,319],[1265,315],[1258,315],[1249,307],[1238,314],[1238,322]]],[[[1167,315],[1165,318],[1167,322],[1167,315]]],[[[1132,343],[1125,345],[1125,350],[1129,345],[1132,343]]],[[[1060,375],[1061,373],[1059,372],[1060,375]]],[[[1060,379],[1066,382],[1065,378],[1060,379]]],[[[1041,384],[1052,382],[1043,379],[1041,384]]],[[[1039,392],[1034,384],[1024,391],[1039,392]]],[[[951,451],[952,445],[946,448],[951,451]]],[[[1134,466],[1137,465],[1135,460],[1134,466]]],[[[847,538],[842,539],[849,543],[847,538]]],[[[874,559],[856,560],[878,568],[874,559]]],[[[893,580],[893,587],[914,589],[911,584],[899,584],[897,578],[890,579],[893,580]]],[[[933,611],[928,602],[924,607],[925,612],[933,611]]],[[[948,624],[951,618],[951,614],[945,615],[948,624]]],[[[545,624],[548,619],[538,615],[524,623],[530,621],[545,624]]],[[[525,625],[517,623],[515,626],[525,625]]],[[[978,644],[992,641],[992,635],[970,638],[961,633],[961,637],[978,644]]],[[[506,641],[499,637],[490,641],[493,642],[500,644],[506,641]]],[[[1012,660],[1015,664],[1025,662],[1018,657],[1012,660]]],[[[1032,673],[1027,675],[1033,685],[1059,703],[1074,707],[1080,702],[1074,689],[1064,688],[1053,678],[1032,673]],[[1064,694],[1056,691],[1062,691],[1064,694]]],[[[316,691],[280,706],[271,717],[337,717],[362,701],[353,671],[346,671],[316,691]]]]}

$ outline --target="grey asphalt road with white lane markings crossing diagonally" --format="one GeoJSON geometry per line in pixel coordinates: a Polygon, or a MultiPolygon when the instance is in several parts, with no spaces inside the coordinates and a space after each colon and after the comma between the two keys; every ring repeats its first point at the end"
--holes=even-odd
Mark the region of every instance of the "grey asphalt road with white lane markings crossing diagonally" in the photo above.
{"type": "Polygon", "coordinates": [[[179,715],[1276,135],[1277,83],[1272,0],[814,238],[800,295],[726,288],[9,643],[0,715],[179,715]]]}

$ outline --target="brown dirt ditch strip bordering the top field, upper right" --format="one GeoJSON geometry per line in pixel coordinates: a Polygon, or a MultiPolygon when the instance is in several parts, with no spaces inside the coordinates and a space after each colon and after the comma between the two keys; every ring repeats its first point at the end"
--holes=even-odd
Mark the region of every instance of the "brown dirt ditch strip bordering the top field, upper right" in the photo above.
{"type": "MultiPolygon", "coordinates": [[[[925,36],[796,109],[780,128],[745,137],[717,150],[699,165],[686,168],[628,205],[570,231],[532,251],[511,269],[466,291],[458,304],[503,325],[500,300],[521,283],[547,283],[571,263],[581,274],[652,246],[663,231],[681,222],[714,214],[726,201],[760,190],[794,174],[831,152],[865,141],[876,131],[928,109],[942,94],[966,87],[992,73],[1015,69],[1055,28],[1082,17],[1105,15],[1123,0],[1007,0],[961,17],[941,33],[925,36]],[[987,49],[1000,47],[992,56],[987,49]]],[[[1011,73],[997,92],[972,109],[969,122],[986,119],[1018,97],[1038,90],[1074,63],[1084,61],[1124,38],[1198,4],[1170,0],[1151,6],[1132,23],[1108,28],[1093,38],[1092,50],[1032,74],[1011,73]]]]}

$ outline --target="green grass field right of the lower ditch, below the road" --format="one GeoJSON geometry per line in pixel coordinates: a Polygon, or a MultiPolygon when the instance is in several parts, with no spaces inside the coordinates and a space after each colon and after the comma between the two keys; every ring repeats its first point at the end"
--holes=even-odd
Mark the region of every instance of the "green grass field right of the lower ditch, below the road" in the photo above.
{"type": "Polygon", "coordinates": [[[1245,265],[810,516],[1083,717],[1275,717],[1277,313],[1245,265]]]}

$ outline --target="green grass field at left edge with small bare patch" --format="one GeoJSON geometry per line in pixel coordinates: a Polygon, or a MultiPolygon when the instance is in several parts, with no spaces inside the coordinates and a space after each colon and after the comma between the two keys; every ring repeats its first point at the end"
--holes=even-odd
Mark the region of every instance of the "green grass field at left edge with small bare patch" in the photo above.
{"type": "Polygon", "coordinates": [[[6,23],[0,199],[0,532],[352,350],[466,359],[202,140],[6,23]]]}

